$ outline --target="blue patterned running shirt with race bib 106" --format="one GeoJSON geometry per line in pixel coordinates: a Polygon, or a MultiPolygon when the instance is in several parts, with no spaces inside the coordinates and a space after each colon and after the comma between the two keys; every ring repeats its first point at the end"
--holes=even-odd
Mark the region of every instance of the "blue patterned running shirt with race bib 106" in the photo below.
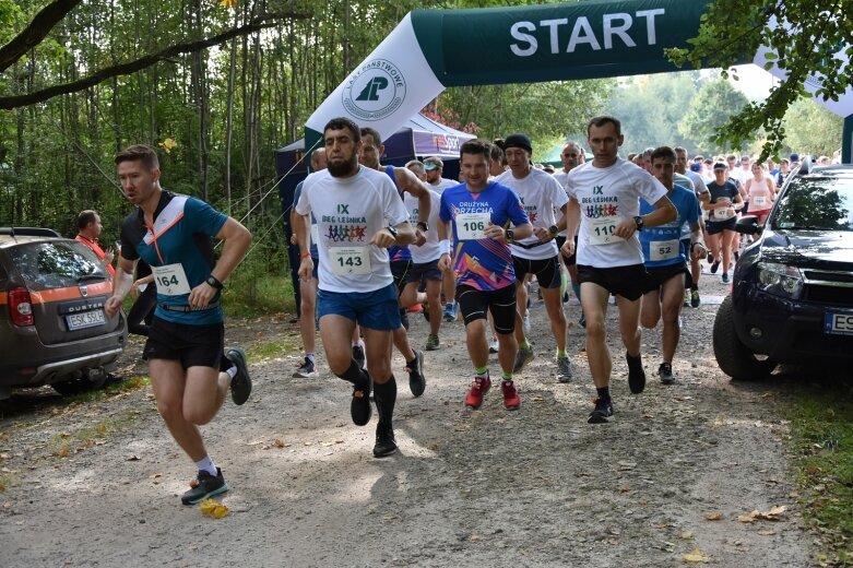
{"type": "Polygon", "coordinates": [[[519,196],[500,184],[493,181],[479,193],[469,191],[467,184],[448,188],[441,193],[439,217],[445,223],[453,222],[457,285],[483,291],[500,289],[516,282],[509,245],[488,237],[464,238],[482,233],[484,214],[493,224],[500,226],[508,221],[516,226],[530,223],[519,196]]]}

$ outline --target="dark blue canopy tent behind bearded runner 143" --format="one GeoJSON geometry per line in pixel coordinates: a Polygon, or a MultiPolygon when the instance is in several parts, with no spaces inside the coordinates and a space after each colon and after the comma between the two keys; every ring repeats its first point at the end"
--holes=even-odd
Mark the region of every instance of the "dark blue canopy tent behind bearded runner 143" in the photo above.
{"type": "MultiPolygon", "coordinates": [[[[386,152],[382,164],[403,166],[410,159],[423,159],[426,156],[439,156],[445,163],[443,177],[459,177],[459,149],[474,134],[462,132],[417,114],[410,118],[393,135],[384,141],[386,152]]],[[[296,186],[306,178],[307,170],[305,139],[297,140],[275,151],[275,175],[279,182],[279,200],[284,213],[284,237],[291,242],[291,208],[296,186]]],[[[287,249],[291,275],[296,291],[297,311],[299,307],[299,286],[296,270],[299,268],[299,248],[289,245],[287,249]]]]}

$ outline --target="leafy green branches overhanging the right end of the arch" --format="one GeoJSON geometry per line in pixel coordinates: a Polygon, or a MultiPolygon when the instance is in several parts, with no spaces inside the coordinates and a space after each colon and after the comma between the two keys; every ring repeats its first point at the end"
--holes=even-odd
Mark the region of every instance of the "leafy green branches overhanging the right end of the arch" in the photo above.
{"type": "MultiPolygon", "coordinates": [[[[838,100],[851,85],[846,63],[836,58],[840,46],[850,46],[853,19],[850,7],[837,0],[715,0],[702,17],[691,49],[671,49],[676,64],[720,67],[751,60],[760,46],[775,52],[786,81],[773,87],[763,102],[750,103],[715,130],[715,142],[741,147],[762,129],[767,142],[762,157],[778,155],[785,139],[784,116],[801,96],[809,75],[822,75],[817,96],[838,100]],[[737,14],[733,17],[732,14],[737,14]],[[790,25],[774,26],[774,22],[790,25]]],[[[848,58],[853,48],[848,47],[848,58]]]]}

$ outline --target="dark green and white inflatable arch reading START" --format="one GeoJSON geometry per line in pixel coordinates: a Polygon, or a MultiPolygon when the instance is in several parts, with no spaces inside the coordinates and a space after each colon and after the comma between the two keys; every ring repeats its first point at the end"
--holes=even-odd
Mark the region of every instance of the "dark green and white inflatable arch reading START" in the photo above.
{"type": "MultiPolygon", "coordinates": [[[[449,86],[678,71],[664,49],[689,47],[707,5],[707,0],[597,0],[415,10],[311,115],[306,149],[316,147],[323,126],[341,116],[387,138],[449,86]]],[[[759,52],[741,62],[750,61],[766,59],[759,52]]],[[[850,163],[853,95],[816,100],[846,117],[842,159],[850,163]]]]}

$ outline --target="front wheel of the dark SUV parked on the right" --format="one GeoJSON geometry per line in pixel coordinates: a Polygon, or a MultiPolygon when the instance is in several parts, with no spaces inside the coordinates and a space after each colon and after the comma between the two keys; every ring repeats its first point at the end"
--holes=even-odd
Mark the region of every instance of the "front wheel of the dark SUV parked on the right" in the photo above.
{"type": "Polygon", "coordinates": [[[773,372],[777,366],[772,359],[759,358],[737,338],[732,296],[727,296],[720,305],[720,309],[716,310],[713,348],[720,369],[733,379],[765,379],[773,372]]]}

